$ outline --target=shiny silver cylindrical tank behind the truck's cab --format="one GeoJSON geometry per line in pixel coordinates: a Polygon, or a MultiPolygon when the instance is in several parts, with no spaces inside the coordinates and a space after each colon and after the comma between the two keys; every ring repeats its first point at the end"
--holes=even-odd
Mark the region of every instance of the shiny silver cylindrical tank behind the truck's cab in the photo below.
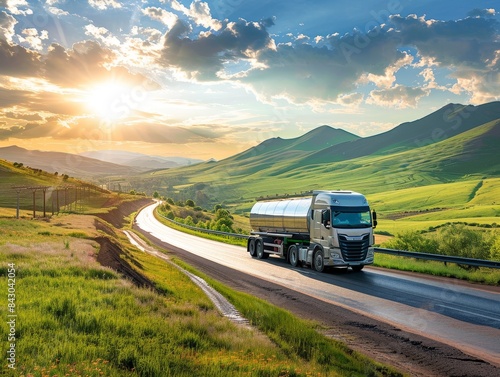
{"type": "Polygon", "coordinates": [[[257,202],[250,211],[256,232],[309,233],[312,198],[257,202]]]}

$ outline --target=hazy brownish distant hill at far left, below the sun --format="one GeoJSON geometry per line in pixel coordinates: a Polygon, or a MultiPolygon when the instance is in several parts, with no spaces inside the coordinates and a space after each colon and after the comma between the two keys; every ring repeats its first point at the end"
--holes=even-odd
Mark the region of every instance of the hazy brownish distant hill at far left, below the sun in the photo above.
{"type": "MultiPolygon", "coordinates": [[[[18,146],[0,148],[0,158],[23,163],[49,173],[58,172],[78,178],[95,178],[98,176],[128,175],[131,168],[123,165],[103,162],[93,158],[70,153],[32,151],[18,146]]],[[[135,170],[139,172],[139,169],[135,170]]]]}

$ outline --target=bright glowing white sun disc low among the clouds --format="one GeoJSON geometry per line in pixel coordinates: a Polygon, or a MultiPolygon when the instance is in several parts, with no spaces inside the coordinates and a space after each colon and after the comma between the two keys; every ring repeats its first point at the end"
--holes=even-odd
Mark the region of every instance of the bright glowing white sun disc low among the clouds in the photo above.
{"type": "Polygon", "coordinates": [[[127,100],[130,91],[122,82],[103,82],[89,88],[85,95],[87,110],[105,120],[118,120],[129,115],[131,105],[127,100]]]}

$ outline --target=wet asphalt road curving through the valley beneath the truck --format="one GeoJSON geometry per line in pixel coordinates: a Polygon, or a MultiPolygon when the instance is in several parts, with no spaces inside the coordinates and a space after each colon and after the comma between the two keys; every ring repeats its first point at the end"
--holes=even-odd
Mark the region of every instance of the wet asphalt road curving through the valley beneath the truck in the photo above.
{"type": "Polygon", "coordinates": [[[500,292],[453,280],[365,268],[317,273],[279,258],[256,260],[244,248],[175,231],[143,209],[136,226],[158,240],[323,302],[423,335],[500,366],[500,292]]]}

